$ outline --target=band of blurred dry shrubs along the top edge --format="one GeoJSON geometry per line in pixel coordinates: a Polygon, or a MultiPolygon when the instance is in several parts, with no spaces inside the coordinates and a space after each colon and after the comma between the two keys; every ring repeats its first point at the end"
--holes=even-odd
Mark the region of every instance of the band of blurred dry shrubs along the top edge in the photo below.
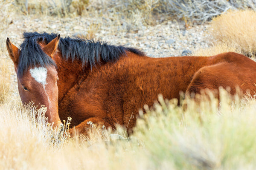
{"type": "Polygon", "coordinates": [[[61,17],[114,12],[134,23],[154,24],[167,19],[187,24],[203,23],[233,9],[256,10],[254,0],[15,0],[24,14],[47,14],[61,17]]]}

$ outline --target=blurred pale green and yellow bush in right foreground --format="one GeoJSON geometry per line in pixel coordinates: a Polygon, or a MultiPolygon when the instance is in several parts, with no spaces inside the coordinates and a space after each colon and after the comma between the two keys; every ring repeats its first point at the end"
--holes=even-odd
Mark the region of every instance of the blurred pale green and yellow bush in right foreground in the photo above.
{"type": "Polygon", "coordinates": [[[187,101],[187,110],[176,102],[164,102],[138,120],[138,139],[157,166],[173,169],[243,169],[255,167],[255,98],[231,100],[221,92],[220,108],[216,99],[202,101],[199,107],[187,101]],[[250,101],[250,102],[248,102],[250,101]],[[248,105],[248,103],[250,103],[248,105]]]}

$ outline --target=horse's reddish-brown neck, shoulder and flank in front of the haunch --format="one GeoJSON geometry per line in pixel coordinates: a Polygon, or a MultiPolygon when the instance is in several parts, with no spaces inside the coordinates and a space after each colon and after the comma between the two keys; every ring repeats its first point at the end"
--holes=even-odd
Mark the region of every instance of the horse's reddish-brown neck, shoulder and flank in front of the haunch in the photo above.
{"type": "Polygon", "coordinates": [[[72,116],[76,125],[93,115],[112,127],[116,123],[133,127],[136,118],[131,119],[131,116],[137,115],[145,104],[152,106],[158,94],[172,99],[179,98],[180,91],[186,91],[193,74],[189,66],[184,68],[188,59],[150,58],[128,53],[116,62],[92,68],[59,104],[60,115],[75,111],[72,116]]]}

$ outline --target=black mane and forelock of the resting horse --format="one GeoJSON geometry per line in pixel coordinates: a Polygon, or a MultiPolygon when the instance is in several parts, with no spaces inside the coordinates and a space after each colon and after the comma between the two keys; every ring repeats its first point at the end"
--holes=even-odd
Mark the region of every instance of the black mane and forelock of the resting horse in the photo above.
{"type": "MultiPolygon", "coordinates": [[[[58,34],[48,34],[46,32],[41,34],[37,32],[24,32],[24,41],[20,45],[21,53],[17,74],[22,76],[29,66],[56,66],[55,62],[44,53],[38,42],[43,41],[48,44],[57,36],[58,34]]],[[[58,48],[64,59],[72,59],[72,61],[79,59],[83,66],[86,65],[90,67],[99,63],[100,60],[104,62],[116,61],[120,56],[125,55],[126,51],[131,51],[140,56],[145,55],[136,48],[128,48],[122,45],[115,46],[100,40],[84,40],[77,37],[60,38],[58,48]]]]}

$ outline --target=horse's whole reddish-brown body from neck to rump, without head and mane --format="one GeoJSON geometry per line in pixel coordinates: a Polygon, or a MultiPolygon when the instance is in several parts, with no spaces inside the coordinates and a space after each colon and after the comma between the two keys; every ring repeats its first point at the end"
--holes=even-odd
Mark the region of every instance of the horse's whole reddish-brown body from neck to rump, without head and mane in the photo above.
{"type": "MultiPolygon", "coordinates": [[[[64,104],[70,113],[76,111],[72,115],[74,125],[96,116],[112,127],[119,123],[130,129],[135,125],[139,109],[145,104],[152,106],[158,94],[166,99],[179,99],[180,91],[192,91],[191,87],[215,89],[220,85],[239,84],[242,88],[253,89],[254,66],[255,62],[236,53],[151,58],[128,52],[115,62],[93,67],[79,85],[70,89],[70,96],[63,101],[74,103],[64,104]],[[243,81],[247,84],[242,84],[243,81]]],[[[60,104],[59,110],[65,112],[62,106],[60,104]]]]}

